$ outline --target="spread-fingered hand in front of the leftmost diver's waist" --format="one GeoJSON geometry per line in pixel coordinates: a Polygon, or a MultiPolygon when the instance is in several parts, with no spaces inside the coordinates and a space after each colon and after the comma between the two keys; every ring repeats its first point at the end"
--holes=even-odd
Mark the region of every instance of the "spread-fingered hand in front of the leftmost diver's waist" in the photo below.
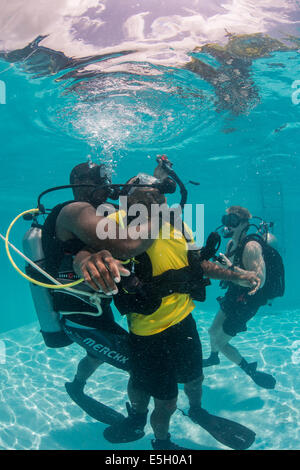
{"type": "Polygon", "coordinates": [[[125,269],[107,250],[90,253],[81,259],[76,271],[79,271],[92,289],[97,292],[100,290],[107,295],[117,294],[116,284],[120,282],[121,276],[130,276],[128,269],[125,269]]]}

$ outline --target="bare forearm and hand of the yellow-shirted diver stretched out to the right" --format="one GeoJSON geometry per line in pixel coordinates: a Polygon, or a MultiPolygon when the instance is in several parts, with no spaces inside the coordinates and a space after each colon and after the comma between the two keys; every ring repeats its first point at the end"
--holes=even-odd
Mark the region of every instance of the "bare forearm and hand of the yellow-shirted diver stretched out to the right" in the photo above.
{"type": "Polygon", "coordinates": [[[254,272],[243,271],[236,272],[231,269],[223,269],[211,261],[204,260],[201,262],[203,274],[211,279],[219,279],[221,281],[231,281],[244,287],[253,287],[249,295],[255,294],[260,286],[260,279],[254,272]]]}

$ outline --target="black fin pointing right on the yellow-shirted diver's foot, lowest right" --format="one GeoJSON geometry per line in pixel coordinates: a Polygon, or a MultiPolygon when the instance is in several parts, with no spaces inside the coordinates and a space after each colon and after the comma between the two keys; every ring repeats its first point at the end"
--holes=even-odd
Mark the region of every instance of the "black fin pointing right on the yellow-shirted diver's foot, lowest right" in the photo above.
{"type": "Polygon", "coordinates": [[[217,441],[234,450],[248,449],[255,440],[255,432],[246,428],[242,424],[236,423],[226,418],[214,416],[203,408],[189,410],[188,416],[191,420],[199,424],[217,441]]]}

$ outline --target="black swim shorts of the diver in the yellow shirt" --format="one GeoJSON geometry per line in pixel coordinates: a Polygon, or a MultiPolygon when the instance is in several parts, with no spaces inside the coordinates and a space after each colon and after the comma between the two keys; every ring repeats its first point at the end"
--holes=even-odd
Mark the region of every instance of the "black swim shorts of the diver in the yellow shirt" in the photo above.
{"type": "Polygon", "coordinates": [[[159,400],[178,394],[178,383],[202,376],[202,347],[192,315],[161,333],[130,333],[129,357],[134,388],[159,400]]]}

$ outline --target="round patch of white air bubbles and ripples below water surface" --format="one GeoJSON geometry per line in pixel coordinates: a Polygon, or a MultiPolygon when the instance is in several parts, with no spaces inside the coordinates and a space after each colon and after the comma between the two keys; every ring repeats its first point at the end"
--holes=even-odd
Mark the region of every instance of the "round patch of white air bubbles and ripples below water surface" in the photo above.
{"type": "Polygon", "coordinates": [[[93,161],[100,152],[112,165],[130,151],[183,145],[213,117],[211,100],[189,79],[186,71],[135,63],[86,77],[69,87],[57,125],[85,140],[93,161]]]}

